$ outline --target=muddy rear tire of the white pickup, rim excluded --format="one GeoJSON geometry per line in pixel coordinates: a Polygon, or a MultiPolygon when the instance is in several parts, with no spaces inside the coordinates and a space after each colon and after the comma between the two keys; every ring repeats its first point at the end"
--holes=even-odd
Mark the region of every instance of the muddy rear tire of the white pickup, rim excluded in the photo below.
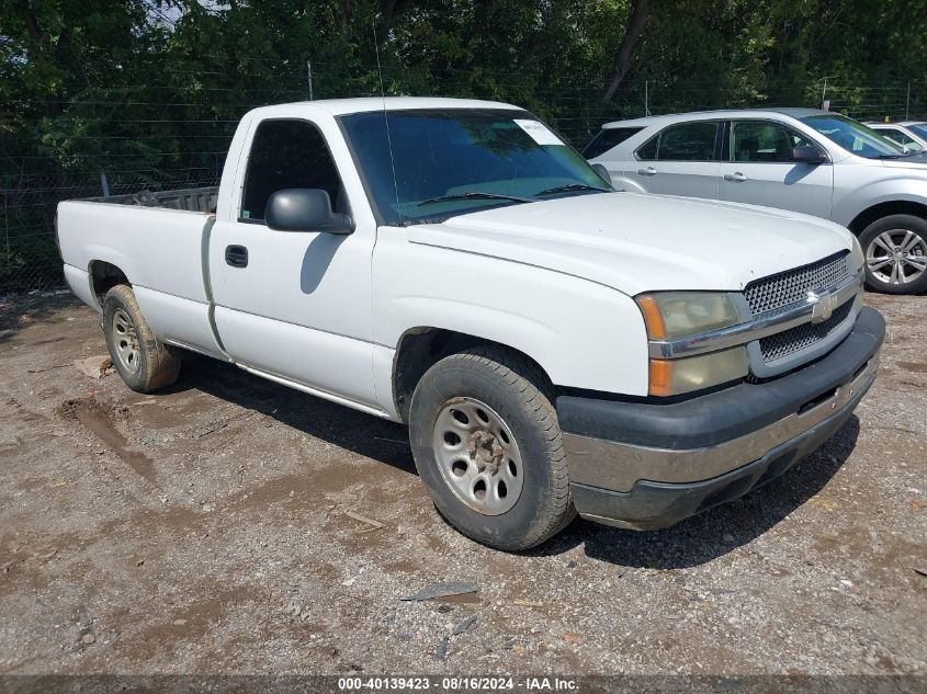
{"type": "Polygon", "coordinates": [[[132,287],[124,284],[114,286],[103,298],[103,334],[106,335],[106,348],[113,360],[113,366],[122,379],[133,390],[138,392],[155,392],[167,388],[180,376],[180,354],[176,348],[161,344],[148,327],[132,287]],[[120,320],[117,320],[120,317],[120,320]],[[120,332],[115,323],[124,326],[125,318],[131,322],[131,329],[120,332]],[[121,345],[125,348],[133,339],[136,357],[124,359],[121,345]]]}

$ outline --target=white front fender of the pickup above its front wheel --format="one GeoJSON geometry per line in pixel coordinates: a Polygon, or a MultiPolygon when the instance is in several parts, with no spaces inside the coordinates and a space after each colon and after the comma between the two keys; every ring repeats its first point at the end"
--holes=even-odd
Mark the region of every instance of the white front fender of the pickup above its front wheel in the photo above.
{"type": "Polygon", "coordinates": [[[394,239],[374,254],[373,316],[393,349],[411,328],[452,330],[523,352],[558,386],[647,394],[636,304],[580,277],[394,239]]]}

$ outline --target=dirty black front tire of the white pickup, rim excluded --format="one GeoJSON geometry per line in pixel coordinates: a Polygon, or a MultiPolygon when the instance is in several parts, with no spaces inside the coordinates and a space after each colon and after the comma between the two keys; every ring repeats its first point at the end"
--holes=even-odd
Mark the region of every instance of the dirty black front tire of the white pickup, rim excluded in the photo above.
{"type": "Polygon", "coordinates": [[[409,439],[416,467],[441,515],[471,539],[519,551],[543,543],[576,517],[553,388],[533,363],[511,351],[482,346],[442,359],[412,395],[409,439]],[[436,423],[463,398],[498,413],[520,451],[521,489],[509,510],[486,515],[464,503],[439,468],[436,423]]]}

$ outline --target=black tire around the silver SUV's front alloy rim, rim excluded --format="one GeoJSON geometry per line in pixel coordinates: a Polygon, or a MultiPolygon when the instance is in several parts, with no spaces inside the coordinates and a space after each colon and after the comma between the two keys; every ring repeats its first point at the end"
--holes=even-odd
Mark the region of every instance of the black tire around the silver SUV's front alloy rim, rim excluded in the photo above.
{"type": "Polygon", "coordinates": [[[927,261],[927,219],[923,217],[915,215],[889,215],[888,217],[877,219],[859,235],[859,244],[862,247],[863,255],[866,255],[866,284],[871,289],[884,292],[885,294],[919,294],[927,289],[927,271],[923,271],[919,275],[914,276],[918,271],[912,264],[902,262],[897,270],[901,273],[898,275],[900,277],[909,277],[907,282],[892,282],[891,262],[888,265],[883,265],[882,269],[877,266],[874,272],[870,269],[873,258],[879,259],[884,257],[888,259],[890,257],[889,251],[879,244],[880,240],[884,239],[882,235],[888,232],[891,238],[900,241],[907,231],[911,231],[916,237],[916,239],[911,239],[911,242],[914,244],[912,251],[920,259],[927,261]],[[894,230],[898,232],[894,234],[894,230]]]}

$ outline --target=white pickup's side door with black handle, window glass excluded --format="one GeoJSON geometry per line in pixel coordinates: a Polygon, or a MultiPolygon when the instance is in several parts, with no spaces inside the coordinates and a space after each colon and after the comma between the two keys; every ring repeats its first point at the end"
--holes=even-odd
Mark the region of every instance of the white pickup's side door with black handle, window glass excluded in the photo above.
{"type": "Polygon", "coordinates": [[[350,212],[315,123],[261,121],[242,151],[231,209],[210,238],[215,323],[226,352],[250,371],[381,409],[372,375],[375,227],[336,236],[267,226],[268,198],[285,189],[321,189],[336,212],[350,212]]]}

